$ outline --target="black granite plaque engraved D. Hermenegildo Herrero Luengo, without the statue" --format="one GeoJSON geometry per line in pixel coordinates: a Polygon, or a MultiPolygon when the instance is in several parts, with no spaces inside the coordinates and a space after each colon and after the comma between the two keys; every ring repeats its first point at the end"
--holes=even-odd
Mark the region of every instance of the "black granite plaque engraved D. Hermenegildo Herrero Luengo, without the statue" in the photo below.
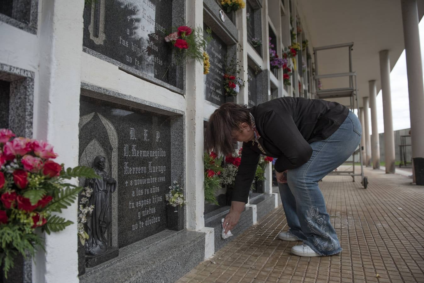
{"type": "Polygon", "coordinates": [[[80,164],[92,166],[102,155],[108,177],[117,180],[110,196],[116,196],[111,229],[117,229],[117,246],[165,230],[171,183],[168,117],[84,96],[80,115],[80,164]]]}

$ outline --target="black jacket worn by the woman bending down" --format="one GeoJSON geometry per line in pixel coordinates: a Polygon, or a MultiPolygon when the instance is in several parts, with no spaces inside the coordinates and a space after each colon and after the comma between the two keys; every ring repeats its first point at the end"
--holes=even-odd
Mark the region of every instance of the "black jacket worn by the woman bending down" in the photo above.
{"type": "MultiPolygon", "coordinates": [[[[310,143],[331,136],[349,114],[339,103],[302,97],[276,98],[250,111],[265,155],[278,158],[274,165],[277,172],[305,164],[312,155],[310,143]]],[[[233,201],[247,203],[261,153],[256,142],[243,143],[233,201]]]]}

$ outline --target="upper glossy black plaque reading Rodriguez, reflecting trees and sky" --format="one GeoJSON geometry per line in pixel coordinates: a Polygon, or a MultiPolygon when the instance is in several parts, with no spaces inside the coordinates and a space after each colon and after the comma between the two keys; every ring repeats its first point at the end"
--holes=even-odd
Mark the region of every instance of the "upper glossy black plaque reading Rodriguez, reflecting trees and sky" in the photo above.
{"type": "Polygon", "coordinates": [[[176,70],[168,67],[172,44],[172,0],[95,0],[84,8],[83,45],[173,86],[176,70]]]}

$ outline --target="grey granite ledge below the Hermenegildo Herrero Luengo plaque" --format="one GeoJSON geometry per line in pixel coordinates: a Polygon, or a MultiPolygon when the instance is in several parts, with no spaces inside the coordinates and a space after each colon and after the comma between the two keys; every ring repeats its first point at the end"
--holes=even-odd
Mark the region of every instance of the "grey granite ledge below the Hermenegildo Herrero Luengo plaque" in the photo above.
{"type": "Polygon", "coordinates": [[[204,260],[205,233],[164,230],[119,249],[119,256],[87,268],[81,283],[175,282],[204,260]]]}

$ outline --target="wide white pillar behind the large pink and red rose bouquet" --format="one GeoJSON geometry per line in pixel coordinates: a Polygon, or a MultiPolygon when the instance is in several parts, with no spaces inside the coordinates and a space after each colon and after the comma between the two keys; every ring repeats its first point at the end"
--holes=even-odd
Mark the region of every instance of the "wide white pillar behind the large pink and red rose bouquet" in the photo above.
{"type": "MultiPolygon", "coordinates": [[[[83,9],[83,0],[42,1],[39,46],[34,47],[40,61],[33,136],[53,144],[57,162],[66,167],[78,165],[83,9]]],[[[74,224],[59,233],[44,233],[45,252],[36,254],[33,282],[78,282],[77,207],[75,202],[60,214],[74,224]]]]}

